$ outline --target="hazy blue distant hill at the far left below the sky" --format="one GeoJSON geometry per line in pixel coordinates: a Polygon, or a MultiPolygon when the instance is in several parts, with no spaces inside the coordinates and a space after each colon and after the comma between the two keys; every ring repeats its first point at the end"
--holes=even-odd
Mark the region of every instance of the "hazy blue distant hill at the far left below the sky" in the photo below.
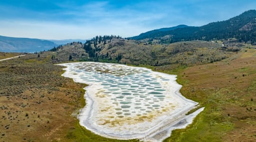
{"type": "Polygon", "coordinates": [[[1,52],[38,52],[54,46],[57,44],[48,40],[0,36],[1,52]]]}

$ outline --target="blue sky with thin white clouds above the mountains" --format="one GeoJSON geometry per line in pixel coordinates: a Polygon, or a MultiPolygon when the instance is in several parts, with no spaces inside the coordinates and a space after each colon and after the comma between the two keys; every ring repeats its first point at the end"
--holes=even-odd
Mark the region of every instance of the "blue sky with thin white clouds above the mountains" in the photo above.
{"type": "Polygon", "coordinates": [[[0,0],[0,35],[41,39],[129,37],[202,26],[256,9],[256,0],[0,0]]]}

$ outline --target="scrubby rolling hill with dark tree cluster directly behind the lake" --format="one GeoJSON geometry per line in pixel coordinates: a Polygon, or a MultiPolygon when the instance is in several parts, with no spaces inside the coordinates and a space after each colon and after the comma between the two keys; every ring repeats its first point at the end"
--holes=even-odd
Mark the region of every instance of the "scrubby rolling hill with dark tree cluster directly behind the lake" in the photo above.
{"type": "Polygon", "coordinates": [[[85,44],[71,43],[58,46],[52,57],[53,62],[94,61],[134,65],[194,66],[228,58],[240,50],[238,47],[222,49],[221,44],[208,41],[188,41],[172,44],[145,44],[123,38],[100,36],[85,44]]]}

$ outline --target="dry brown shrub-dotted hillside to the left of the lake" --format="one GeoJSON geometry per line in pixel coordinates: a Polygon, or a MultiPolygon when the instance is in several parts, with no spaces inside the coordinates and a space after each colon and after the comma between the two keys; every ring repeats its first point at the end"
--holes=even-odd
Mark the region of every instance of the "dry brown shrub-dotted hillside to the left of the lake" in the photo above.
{"type": "Polygon", "coordinates": [[[86,85],[62,77],[64,67],[52,63],[52,54],[0,62],[0,141],[115,141],[79,125],[75,115],[85,105],[86,85]]]}

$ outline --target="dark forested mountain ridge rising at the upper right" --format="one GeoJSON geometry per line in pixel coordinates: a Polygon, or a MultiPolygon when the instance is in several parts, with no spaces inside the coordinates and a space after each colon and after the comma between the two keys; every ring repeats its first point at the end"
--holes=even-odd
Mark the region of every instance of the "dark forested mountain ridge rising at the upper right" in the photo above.
{"type": "Polygon", "coordinates": [[[191,40],[227,40],[236,38],[238,42],[256,41],[256,10],[248,10],[239,16],[230,18],[229,20],[213,22],[201,27],[177,26],[170,28],[162,28],[137,36],[129,37],[129,39],[158,39],[162,43],[174,43],[179,41],[191,40]],[[163,30],[164,29],[164,30],[163,30]],[[169,38],[163,38],[169,35],[169,38]]]}

